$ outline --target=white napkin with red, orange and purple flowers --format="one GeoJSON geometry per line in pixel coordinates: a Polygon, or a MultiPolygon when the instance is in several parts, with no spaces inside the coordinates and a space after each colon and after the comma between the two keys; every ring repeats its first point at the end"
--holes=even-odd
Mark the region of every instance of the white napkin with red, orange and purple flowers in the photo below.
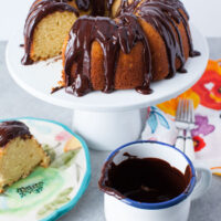
{"type": "Polygon", "coordinates": [[[209,61],[204,74],[192,88],[157,107],[149,107],[143,139],[175,144],[175,114],[179,97],[191,98],[194,104],[196,128],[191,134],[196,159],[221,176],[221,61],[209,61]]]}

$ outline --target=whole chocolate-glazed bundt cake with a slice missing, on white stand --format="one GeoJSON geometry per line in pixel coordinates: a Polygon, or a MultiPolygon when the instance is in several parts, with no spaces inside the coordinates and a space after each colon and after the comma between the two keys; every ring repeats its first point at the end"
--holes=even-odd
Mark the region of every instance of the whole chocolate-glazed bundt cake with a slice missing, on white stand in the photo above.
{"type": "Polygon", "coordinates": [[[186,72],[187,59],[200,55],[188,20],[179,0],[38,0],[24,27],[23,64],[57,55],[63,44],[67,93],[149,94],[151,81],[186,72]]]}

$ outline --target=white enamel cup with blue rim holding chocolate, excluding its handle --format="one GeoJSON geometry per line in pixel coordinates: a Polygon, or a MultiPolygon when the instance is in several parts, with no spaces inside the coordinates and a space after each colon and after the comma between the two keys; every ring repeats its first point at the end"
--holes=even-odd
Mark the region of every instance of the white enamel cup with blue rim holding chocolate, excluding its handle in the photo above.
{"type": "Polygon", "coordinates": [[[124,145],[109,155],[98,181],[106,221],[187,221],[196,182],[192,162],[173,146],[124,145]]]}

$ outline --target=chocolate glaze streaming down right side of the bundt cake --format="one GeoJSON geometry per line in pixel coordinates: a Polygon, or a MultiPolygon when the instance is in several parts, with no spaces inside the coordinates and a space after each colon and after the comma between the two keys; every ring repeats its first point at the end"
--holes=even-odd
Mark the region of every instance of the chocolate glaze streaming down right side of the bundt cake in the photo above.
{"type": "Polygon", "coordinates": [[[161,35],[168,54],[168,78],[172,77],[177,72],[176,57],[178,57],[181,63],[179,71],[182,73],[186,72],[186,70],[183,70],[186,57],[183,54],[182,39],[176,22],[183,23],[190,48],[189,55],[196,56],[200,55],[200,53],[193,50],[192,39],[187,22],[189,15],[182,2],[178,0],[146,0],[136,8],[135,13],[138,13],[139,17],[150,23],[161,35]]]}

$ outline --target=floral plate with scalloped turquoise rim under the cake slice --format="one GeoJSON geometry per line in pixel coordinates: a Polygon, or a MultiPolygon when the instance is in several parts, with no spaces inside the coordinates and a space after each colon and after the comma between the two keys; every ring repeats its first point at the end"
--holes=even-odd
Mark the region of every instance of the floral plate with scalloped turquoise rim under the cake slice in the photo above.
{"type": "Polygon", "coordinates": [[[18,118],[42,144],[50,167],[36,167],[0,194],[0,220],[51,221],[69,212],[86,190],[91,178],[85,141],[66,126],[46,119],[18,118]]]}

